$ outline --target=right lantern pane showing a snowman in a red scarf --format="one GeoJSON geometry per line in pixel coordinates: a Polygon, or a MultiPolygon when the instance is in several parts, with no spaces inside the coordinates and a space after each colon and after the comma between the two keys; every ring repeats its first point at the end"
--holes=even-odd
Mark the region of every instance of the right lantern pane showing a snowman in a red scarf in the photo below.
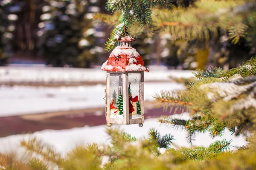
{"type": "Polygon", "coordinates": [[[129,116],[130,119],[141,118],[140,107],[140,73],[129,73],[129,116]]]}

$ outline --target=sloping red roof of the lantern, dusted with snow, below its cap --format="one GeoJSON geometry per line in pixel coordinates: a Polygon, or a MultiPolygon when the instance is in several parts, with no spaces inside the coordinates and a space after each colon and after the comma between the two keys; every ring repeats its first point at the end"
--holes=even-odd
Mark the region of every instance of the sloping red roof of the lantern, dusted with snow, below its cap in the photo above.
{"type": "Polygon", "coordinates": [[[149,71],[140,54],[132,47],[117,46],[101,67],[104,71],[149,71]]]}

